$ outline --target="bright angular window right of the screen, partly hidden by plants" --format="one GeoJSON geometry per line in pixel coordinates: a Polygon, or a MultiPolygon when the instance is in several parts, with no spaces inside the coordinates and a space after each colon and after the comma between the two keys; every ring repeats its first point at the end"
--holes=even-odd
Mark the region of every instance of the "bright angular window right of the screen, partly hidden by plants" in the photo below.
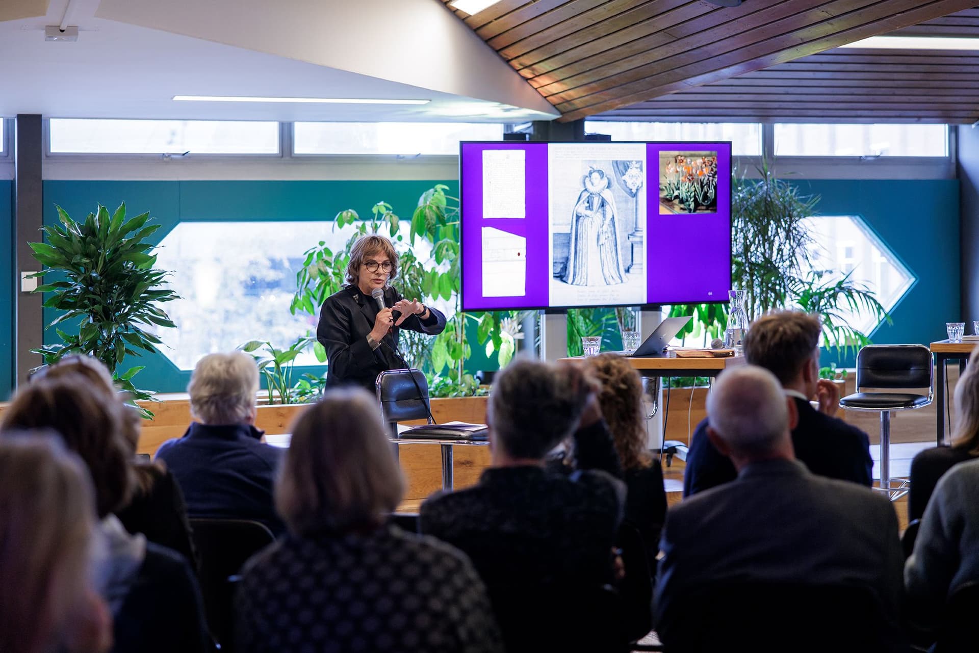
{"type": "MultiPolygon", "coordinates": [[[[854,282],[872,290],[888,311],[917,280],[860,215],[818,215],[806,218],[806,222],[815,240],[814,268],[831,270],[825,280],[850,274],[854,282]]],[[[866,310],[840,312],[851,326],[868,336],[879,324],[866,310]]]]}

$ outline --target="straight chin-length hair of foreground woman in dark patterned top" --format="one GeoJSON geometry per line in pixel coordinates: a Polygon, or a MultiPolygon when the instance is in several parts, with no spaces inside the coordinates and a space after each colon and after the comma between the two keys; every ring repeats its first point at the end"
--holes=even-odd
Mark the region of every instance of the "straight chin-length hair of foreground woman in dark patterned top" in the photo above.
{"type": "Polygon", "coordinates": [[[292,433],[275,489],[291,532],[376,528],[395,511],[404,477],[374,397],[360,388],[329,390],[292,433]]]}

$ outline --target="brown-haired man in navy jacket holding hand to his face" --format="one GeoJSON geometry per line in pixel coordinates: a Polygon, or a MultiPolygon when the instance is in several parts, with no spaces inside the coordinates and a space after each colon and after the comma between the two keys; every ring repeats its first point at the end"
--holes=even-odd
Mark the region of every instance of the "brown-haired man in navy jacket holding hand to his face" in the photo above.
{"type": "MultiPolygon", "coordinates": [[[[769,370],[795,400],[799,415],[792,429],[796,458],[809,471],[869,487],[873,483],[870,445],[865,433],[835,417],[840,393],[836,385],[819,379],[819,320],[799,311],[769,313],[758,319],[744,340],[744,355],[751,365],[769,370]],[[816,410],[810,399],[818,401],[816,410]]],[[[707,438],[710,417],[697,425],[683,473],[683,496],[733,481],[736,473],[707,438]]]]}

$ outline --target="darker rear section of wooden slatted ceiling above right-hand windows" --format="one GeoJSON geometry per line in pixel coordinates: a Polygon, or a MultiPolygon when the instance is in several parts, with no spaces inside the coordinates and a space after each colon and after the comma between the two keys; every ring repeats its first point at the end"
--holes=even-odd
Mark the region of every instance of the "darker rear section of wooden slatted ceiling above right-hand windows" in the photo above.
{"type": "MultiPolygon", "coordinates": [[[[979,37],[979,9],[894,33],[979,37]]],[[[972,123],[979,52],[834,49],[596,118],[972,123]]]]}

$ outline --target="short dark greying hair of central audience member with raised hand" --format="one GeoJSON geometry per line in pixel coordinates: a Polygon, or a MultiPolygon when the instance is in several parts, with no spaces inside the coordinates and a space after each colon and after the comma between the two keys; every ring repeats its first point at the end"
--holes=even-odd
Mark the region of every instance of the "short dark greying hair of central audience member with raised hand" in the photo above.
{"type": "Polygon", "coordinates": [[[515,359],[495,376],[489,394],[493,445],[515,458],[543,459],[577,428],[592,392],[580,365],[515,359]]]}

